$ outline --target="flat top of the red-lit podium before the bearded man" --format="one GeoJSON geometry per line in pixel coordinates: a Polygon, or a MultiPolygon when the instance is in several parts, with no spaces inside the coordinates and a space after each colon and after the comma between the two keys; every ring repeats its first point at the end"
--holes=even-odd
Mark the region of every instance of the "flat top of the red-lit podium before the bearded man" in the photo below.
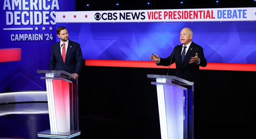
{"type": "Polygon", "coordinates": [[[46,76],[46,74],[52,74],[53,77],[62,77],[67,80],[75,80],[75,75],[68,73],[64,70],[37,70],[37,73],[46,76]]]}

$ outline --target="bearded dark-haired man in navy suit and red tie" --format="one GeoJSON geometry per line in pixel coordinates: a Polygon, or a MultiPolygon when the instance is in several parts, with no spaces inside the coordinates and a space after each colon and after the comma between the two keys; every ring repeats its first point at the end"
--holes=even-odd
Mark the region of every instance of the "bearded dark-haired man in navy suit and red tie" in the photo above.
{"type": "Polygon", "coordinates": [[[76,79],[83,66],[80,44],[68,39],[66,27],[58,27],[56,32],[60,41],[52,45],[49,69],[67,71],[75,75],[76,79]]]}

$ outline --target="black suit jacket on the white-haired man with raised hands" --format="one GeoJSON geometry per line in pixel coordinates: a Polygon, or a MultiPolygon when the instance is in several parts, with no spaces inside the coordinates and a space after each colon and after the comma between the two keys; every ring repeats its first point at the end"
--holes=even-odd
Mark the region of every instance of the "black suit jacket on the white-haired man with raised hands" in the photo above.
{"type": "Polygon", "coordinates": [[[176,63],[175,76],[182,78],[184,80],[194,82],[194,90],[200,90],[201,74],[200,74],[199,66],[205,67],[207,65],[207,61],[204,57],[203,48],[192,42],[190,47],[188,48],[188,51],[182,63],[181,63],[181,50],[182,50],[182,45],[176,46],[173,49],[171,55],[167,58],[160,58],[160,62],[157,65],[169,66],[170,63],[173,64],[175,62],[176,63]],[[200,64],[198,65],[195,62],[192,64],[189,64],[191,57],[195,57],[196,53],[198,55],[198,58],[200,59],[200,64]]]}

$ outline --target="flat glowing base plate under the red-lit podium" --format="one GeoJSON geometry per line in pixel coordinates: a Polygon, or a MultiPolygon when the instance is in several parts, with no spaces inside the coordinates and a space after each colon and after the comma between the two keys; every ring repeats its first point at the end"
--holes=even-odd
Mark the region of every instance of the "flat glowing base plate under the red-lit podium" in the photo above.
{"type": "Polygon", "coordinates": [[[67,132],[67,133],[63,133],[63,132],[52,133],[51,129],[48,129],[48,130],[37,133],[37,136],[44,137],[44,138],[69,139],[69,138],[78,136],[80,134],[81,134],[80,130],[70,130],[70,132],[67,132]]]}

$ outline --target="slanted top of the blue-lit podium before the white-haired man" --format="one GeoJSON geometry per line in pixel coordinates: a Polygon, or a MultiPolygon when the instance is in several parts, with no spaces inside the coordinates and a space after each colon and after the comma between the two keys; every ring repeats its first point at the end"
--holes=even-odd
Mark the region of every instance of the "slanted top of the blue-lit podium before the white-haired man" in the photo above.
{"type": "Polygon", "coordinates": [[[147,74],[147,78],[157,80],[157,79],[164,79],[166,83],[174,83],[177,85],[189,85],[192,86],[194,82],[181,79],[176,76],[169,76],[169,75],[155,75],[155,74],[147,74]]]}

